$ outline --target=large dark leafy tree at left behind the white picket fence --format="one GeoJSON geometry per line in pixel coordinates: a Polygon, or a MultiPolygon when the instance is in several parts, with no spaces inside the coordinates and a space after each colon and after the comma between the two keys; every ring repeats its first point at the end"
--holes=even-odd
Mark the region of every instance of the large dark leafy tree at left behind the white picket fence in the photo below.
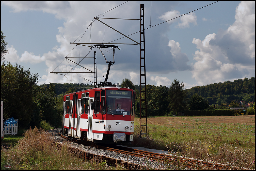
{"type": "MultiPolygon", "coordinates": [[[[34,102],[38,73],[31,74],[24,67],[12,66],[9,62],[1,65],[1,100],[4,102],[4,117],[19,119],[19,125],[29,126],[32,117],[38,116],[34,102]]],[[[38,119],[37,119],[38,120],[38,119]]]]}

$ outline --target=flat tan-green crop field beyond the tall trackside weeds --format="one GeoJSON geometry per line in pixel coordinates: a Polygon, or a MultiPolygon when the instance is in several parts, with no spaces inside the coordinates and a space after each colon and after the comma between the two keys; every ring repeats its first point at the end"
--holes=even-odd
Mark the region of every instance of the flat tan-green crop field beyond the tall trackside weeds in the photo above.
{"type": "MultiPolygon", "coordinates": [[[[198,134],[237,138],[241,142],[255,141],[255,115],[252,116],[199,116],[147,118],[148,131],[163,129],[162,133],[179,132],[181,135],[198,134]],[[164,130],[168,130],[167,132],[164,130]]],[[[140,118],[135,118],[140,125],[140,118]]],[[[142,122],[142,124],[144,124],[142,122]]]]}

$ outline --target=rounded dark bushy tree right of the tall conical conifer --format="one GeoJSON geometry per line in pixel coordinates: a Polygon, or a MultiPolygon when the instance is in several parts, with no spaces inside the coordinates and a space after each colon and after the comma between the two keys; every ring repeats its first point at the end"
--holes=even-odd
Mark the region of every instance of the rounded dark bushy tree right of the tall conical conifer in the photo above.
{"type": "Polygon", "coordinates": [[[197,93],[190,97],[189,109],[190,110],[204,110],[207,109],[209,102],[204,99],[204,97],[198,95],[197,93]]]}

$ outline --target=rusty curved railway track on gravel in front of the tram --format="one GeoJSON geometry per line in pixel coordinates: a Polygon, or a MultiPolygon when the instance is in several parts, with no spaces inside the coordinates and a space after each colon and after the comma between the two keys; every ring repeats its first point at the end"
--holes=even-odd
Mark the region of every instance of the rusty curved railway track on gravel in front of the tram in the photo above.
{"type": "MultiPolygon", "coordinates": [[[[59,135],[65,139],[68,139],[67,136],[61,134],[61,131],[59,132],[59,135]]],[[[125,155],[132,155],[132,156],[137,156],[137,157],[148,158],[151,160],[156,160],[159,162],[164,162],[164,163],[169,163],[169,164],[174,164],[176,162],[179,162],[180,164],[186,166],[187,168],[193,168],[193,169],[207,168],[207,169],[219,169],[219,170],[227,169],[227,167],[224,164],[197,160],[195,158],[189,158],[189,157],[183,157],[183,156],[177,156],[177,155],[165,154],[165,153],[154,153],[154,152],[150,152],[150,151],[144,151],[144,150],[124,147],[124,146],[102,146],[99,144],[88,143],[88,142],[84,142],[81,140],[73,140],[73,141],[75,141],[79,144],[91,146],[91,147],[98,148],[98,149],[108,150],[111,152],[116,152],[116,153],[125,154],[125,155]]],[[[87,157],[90,157],[90,158],[92,158],[92,157],[102,158],[103,157],[103,159],[104,159],[104,156],[98,156],[98,155],[93,155],[93,154],[84,154],[84,155],[87,155],[87,157]]],[[[145,166],[142,166],[139,164],[125,162],[125,161],[117,160],[117,159],[111,158],[111,157],[107,157],[104,160],[108,161],[108,163],[111,166],[115,166],[118,163],[122,163],[128,169],[145,168],[145,166]]],[[[237,169],[246,170],[247,168],[237,168],[237,169]]]]}

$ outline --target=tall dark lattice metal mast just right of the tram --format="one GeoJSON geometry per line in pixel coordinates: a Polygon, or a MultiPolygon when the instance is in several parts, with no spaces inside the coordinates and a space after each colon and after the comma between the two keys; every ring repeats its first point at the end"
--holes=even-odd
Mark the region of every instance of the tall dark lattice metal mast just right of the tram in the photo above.
{"type": "MultiPolygon", "coordinates": [[[[141,133],[139,139],[147,139],[147,96],[146,96],[146,67],[145,67],[145,35],[144,35],[144,4],[141,4],[140,9],[140,26],[141,26],[141,42],[140,42],[140,59],[141,59],[141,72],[140,72],[140,117],[146,119],[146,124],[141,124],[141,133]],[[142,85],[145,86],[145,91],[142,91],[142,85]],[[143,96],[143,97],[142,97],[143,96]],[[141,116],[143,110],[145,110],[145,116],[141,116]],[[142,132],[142,127],[146,127],[146,132],[142,132]]],[[[143,119],[144,120],[144,119],[143,119]]]]}

